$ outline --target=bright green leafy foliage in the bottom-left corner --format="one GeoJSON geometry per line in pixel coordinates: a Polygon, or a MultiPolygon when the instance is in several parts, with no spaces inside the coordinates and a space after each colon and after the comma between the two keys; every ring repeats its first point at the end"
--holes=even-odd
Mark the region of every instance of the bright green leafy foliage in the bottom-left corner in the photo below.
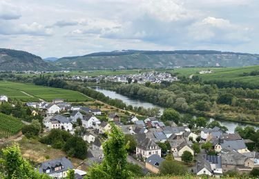
{"type": "Polygon", "coordinates": [[[35,170],[27,160],[23,160],[18,145],[12,145],[3,149],[3,158],[0,160],[3,173],[1,178],[32,178],[32,179],[50,179],[45,174],[40,174],[35,170]]]}

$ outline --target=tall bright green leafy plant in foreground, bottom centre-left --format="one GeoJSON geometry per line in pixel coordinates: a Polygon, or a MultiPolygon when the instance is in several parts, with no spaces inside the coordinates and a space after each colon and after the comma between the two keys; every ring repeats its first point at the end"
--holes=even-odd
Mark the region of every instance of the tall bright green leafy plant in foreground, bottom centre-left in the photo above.
{"type": "Polygon", "coordinates": [[[103,143],[104,160],[88,170],[86,178],[131,178],[127,169],[127,148],[122,131],[111,123],[111,133],[103,143]]]}

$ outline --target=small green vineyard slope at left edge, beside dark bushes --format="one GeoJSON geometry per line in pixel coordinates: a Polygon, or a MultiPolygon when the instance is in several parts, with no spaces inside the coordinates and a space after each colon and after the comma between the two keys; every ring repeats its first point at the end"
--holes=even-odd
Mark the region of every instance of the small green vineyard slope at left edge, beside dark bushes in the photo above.
{"type": "Polygon", "coordinates": [[[8,138],[21,131],[23,123],[18,118],[0,113],[0,138],[8,138]]]}

